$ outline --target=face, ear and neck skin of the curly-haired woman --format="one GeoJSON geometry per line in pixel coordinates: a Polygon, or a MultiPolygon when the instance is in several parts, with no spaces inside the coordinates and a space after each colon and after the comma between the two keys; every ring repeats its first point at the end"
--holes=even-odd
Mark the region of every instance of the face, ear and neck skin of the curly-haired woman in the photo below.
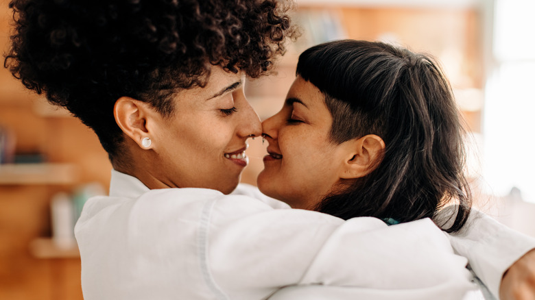
{"type": "Polygon", "coordinates": [[[135,164],[118,171],[134,175],[149,188],[212,188],[228,194],[239,183],[246,140],[261,125],[243,95],[244,77],[213,67],[204,88],[174,95],[175,112],[162,116],[141,101],[122,97],[115,118],[126,136],[135,164]],[[152,140],[145,148],[143,138],[152,140]]]}

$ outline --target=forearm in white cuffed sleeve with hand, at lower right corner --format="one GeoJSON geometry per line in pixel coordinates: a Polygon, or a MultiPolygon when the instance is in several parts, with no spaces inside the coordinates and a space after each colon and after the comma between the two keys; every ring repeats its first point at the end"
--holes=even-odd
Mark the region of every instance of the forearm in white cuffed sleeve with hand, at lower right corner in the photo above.
{"type": "Polygon", "coordinates": [[[451,234],[450,241],[455,252],[468,258],[475,274],[495,297],[534,299],[511,298],[510,295],[518,292],[516,289],[521,286],[530,286],[530,281],[535,279],[535,255],[531,251],[535,249],[535,238],[473,210],[464,228],[451,234]],[[528,252],[530,255],[525,255],[528,252]],[[523,281],[516,282],[520,279],[523,281]]]}

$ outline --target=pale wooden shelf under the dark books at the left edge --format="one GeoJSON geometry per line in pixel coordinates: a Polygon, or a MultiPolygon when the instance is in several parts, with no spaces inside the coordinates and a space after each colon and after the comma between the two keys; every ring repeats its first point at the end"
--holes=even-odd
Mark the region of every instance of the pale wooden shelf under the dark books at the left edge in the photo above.
{"type": "Polygon", "coordinates": [[[0,185],[74,184],[77,179],[73,164],[0,164],[0,185]]]}

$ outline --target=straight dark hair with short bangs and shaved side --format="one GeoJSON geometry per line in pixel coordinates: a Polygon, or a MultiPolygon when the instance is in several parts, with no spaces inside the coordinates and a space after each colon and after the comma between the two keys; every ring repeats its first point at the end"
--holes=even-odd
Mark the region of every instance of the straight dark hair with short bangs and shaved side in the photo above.
{"type": "Polygon", "coordinates": [[[374,171],[326,195],[316,210],[408,222],[457,203],[453,225],[443,229],[462,228],[472,203],[465,132],[432,58],[382,42],[339,40],[303,52],[297,75],[322,91],[333,116],[332,142],[376,134],[386,145],[374,171]]]}

